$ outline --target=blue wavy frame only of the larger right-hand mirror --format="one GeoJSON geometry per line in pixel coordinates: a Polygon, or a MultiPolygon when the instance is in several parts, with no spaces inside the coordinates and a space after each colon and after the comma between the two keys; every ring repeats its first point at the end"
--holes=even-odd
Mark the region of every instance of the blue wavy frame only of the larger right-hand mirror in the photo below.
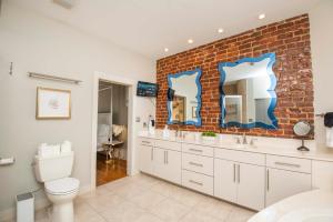
{"type": "Polygon", "coordinates": [[[274,114],[274,110],[275,110],[276,101],[278,101],[276,92],[275,92],[276,77],[273,72],[273,65],[274,65],[275,61],[276,61],[275,60],[275,53],[270,52],[270,53],[265,53],[265,54],[262,54],[260,57],[256,57],[256,58],[243,58],[243,59],[240,59],[235,62],[220,62],[219,63],[219,71],[220,71],[220,107],[221,107],[220,127],[221,128],[238,127],[238,128],[243,128],[243,129],[263,128],[263,129],[274,129],[274,130],[276,130],[279,128],[278,119],[275,118],[275,114],[274,114]],[[266,124],[266,123],[263,123],[263,122],[240,123],[240,122],[235,122],[235,121],[224,123],[223,120],[225,118],[226,110],[225,110],[225,104],[223,104],[223,100],[224,100],[224,97],[225,97],[225,93],[223,91],[223,87],[224,87],[224,81],[225,81],[226,73],[225,73],[223,68],[225,68],[225,67],[236,67],[241,63],[260,62],[260,61],[262,61],[264,59],[268,59],[268,58],[271,60],[268,64],[268,68],[266,68],[268,69],[268,75],[271,79],[271,85],[268,89],[268,92],[271,95],[271,102],[270,102],[270,105],[269,105],[269,109],[268,109],[268,115],[269,115],[272,123],[271,124],[266,124]]]}

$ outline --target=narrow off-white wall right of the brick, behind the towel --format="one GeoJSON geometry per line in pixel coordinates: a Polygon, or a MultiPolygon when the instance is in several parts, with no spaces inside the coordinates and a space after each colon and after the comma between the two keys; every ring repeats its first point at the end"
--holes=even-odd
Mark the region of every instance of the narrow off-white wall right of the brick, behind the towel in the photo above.
{"type": "MultiPolygon", "coordinates": [[[[333,112],[333,1],[322,0],[310,11],[311,51],[314,80],[314,112],[333,112]]],[[[322,118],[315,119],[315,140],[325,143],[322,118]]]]}

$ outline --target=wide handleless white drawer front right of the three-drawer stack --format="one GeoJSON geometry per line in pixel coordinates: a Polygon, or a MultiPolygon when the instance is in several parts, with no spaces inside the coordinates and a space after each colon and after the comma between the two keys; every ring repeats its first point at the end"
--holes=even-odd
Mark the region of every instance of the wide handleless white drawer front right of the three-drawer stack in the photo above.
{"type": "Polygon", "coordinates": [[[215,148],[215,158],[242,163],[250,163],[254,165],[265,165],[265,155],[261,153],[215,148]]]}

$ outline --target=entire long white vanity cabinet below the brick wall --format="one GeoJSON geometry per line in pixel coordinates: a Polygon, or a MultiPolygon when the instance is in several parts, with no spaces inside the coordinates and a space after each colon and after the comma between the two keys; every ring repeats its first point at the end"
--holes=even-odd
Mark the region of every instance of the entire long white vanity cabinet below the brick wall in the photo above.
{"type": "Polygon", "coordinates": [[[333,159],[139,138],[144,173],[253,210],[311,189],[333,190],[333,159]],[[326,159],[325,159],[326,160],[326,159]]]}

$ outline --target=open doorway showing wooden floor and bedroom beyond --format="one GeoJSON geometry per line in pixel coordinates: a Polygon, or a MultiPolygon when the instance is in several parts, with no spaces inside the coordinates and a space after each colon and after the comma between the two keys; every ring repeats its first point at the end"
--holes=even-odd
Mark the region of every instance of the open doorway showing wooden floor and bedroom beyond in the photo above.
{"type": "Polygon", "coordinates": [[[127,176],[129,87],[99,80],[95,184],[127,176]]]}

